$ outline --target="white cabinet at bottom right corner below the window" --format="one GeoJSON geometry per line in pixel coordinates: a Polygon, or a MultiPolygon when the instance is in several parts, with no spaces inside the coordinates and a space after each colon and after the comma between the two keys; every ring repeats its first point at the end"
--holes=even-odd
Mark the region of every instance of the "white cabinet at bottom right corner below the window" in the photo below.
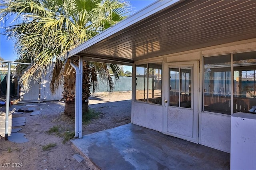
{"type": "Polygon", "coordinates": [[[230,149],[231,170],[256,170],[256,114],[232,115],[230,149]]]}

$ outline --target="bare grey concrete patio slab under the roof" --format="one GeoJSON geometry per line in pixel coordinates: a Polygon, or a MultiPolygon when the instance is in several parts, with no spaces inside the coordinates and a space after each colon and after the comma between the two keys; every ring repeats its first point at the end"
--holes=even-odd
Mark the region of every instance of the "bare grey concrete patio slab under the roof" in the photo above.
{"type": "Polygon", "coordinates": [[[127,124],[71,140],[102,170],[229,170],[230,154],[127,124]]]}

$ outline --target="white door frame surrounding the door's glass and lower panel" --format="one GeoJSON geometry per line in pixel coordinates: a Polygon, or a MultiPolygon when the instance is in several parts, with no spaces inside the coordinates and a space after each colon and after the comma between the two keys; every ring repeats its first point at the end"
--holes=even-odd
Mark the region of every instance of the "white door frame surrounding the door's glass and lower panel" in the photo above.
{"type": "MultiPolygon", "coordinates": [[[[182,61],[182,62],[172,62],[172,63],[165,63],[163,65],[163,133],[182,138],[184,140],[188,140],[194,143],[198,143],[198,136],[199,136],[199,76],[200,75],[200,69],[199,69],[199,61],[182,61]],[[184,135],[179,135],[175,133],[170,133],[167,131],[168,129],[168,108],[169,108],[169,68],[170,67],[192,67],[192,105],[193,105],[193,137],[188,137],[184,135]],[[164,101],[167,100],[167,103],[164,103],[164,101]]],[[[177,108],[177,107],[176,107],[177,108]]],[[[185,110],[186,108],[184,108],[185,110]]]]}

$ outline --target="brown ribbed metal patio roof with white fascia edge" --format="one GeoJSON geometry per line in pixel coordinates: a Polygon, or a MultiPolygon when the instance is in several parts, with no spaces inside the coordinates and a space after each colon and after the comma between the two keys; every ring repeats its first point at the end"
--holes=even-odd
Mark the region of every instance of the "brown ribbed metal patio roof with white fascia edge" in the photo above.
{"type": "Polygon", "coordinates": [[[68,58],[128,64],[256,38],[256,1],[158,0],[69,51],[68,58]]]}

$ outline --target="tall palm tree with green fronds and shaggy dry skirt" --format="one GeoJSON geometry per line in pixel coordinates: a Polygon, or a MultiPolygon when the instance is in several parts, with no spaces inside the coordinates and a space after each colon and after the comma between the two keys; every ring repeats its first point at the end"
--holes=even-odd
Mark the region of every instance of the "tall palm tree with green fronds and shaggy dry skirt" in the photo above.
{"type": "MultiPolygon", "coordinates": [[[[65,112],[74,116],[74,69],[64,54],[70,49],[92,38],[96,34],[126,18],[129,4],[119,0],[6,0],[1,6],[0,21],[14,15],[14,24],[6,28],[6,34],[15,38],[15,48],[20,62],[33,63],[23,74],[20,82],[26,91],[29,82],[40,77],[52,67],[51,91],[62,85],[66,99],[65,112]],[[64,76],[64,77],[63,77],[64,76]]],[[[113,81],[108,69],[118,77],[118,65],[84,62],[83,70],[83,112],[88,111],[90,86],[97,87],[97,73],[106,79],[110,90],[113,81]]],[[[17,69],[24,70],[20,65],[17,69]]]]}

